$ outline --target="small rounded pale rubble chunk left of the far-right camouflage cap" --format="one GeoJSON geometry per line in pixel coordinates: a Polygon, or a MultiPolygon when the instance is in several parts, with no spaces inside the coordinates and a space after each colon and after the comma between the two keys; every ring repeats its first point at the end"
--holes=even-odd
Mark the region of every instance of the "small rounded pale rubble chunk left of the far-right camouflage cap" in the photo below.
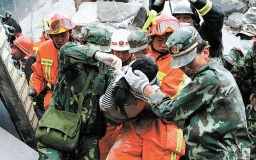
{"type": "Polygon", "coordinates": [[[225,22],[228,26],[231,26],[232,28],[239,29],[244,23],[241,21],[241,19],[244,18],[244,14],[240,12],[234,12],[231,15],[229,15],[227,21],[225,22]]]}

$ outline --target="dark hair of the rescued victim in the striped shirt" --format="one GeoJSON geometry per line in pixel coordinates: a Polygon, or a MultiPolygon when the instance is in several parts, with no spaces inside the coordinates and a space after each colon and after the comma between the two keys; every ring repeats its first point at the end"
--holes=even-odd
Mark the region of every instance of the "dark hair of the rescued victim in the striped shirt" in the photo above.
{"type": "MultiPolygon", "coordinates": [[[[140,70],[141,72],[143,72],[148,77],[149,81],[152,81],[156,77],[156,74],[158,73],[158,66],[156,65],[155,60],[151,56],[142,56],[138,58],[131,65],[131,67],[133,71],[140,70]]],[[[127,102],[127,95],[131,95],[129,88],[129,84],[127,83],[125,78],[122,77],[116,83],[113,89],[115,107],[119,107],[121,114],[125,118],[128,118],[124,109],[124,104],[125,102],[127,102]]]]}

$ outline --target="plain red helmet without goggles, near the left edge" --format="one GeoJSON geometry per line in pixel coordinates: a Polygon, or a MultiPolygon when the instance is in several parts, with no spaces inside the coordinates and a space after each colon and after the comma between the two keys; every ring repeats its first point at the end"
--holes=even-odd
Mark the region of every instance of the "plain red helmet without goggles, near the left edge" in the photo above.
{"type": "Polygon", "coordinates": [[[26,55],[30,56],[33,51],[33,41],[27,36],[19,36],[13,43],[26,55]]]}

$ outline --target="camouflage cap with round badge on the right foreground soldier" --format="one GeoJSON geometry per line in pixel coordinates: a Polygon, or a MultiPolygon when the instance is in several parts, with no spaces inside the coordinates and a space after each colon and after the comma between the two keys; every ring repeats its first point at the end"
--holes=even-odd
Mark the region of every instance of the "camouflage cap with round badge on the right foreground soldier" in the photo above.
{"type": "Polygon", "coordinates": [[[186,66],[196,56],[196,47],[202,42],[196,28],[186,26],[173,32],[166,41],[166,46],[171,53],[171,69],[186,66]]]}

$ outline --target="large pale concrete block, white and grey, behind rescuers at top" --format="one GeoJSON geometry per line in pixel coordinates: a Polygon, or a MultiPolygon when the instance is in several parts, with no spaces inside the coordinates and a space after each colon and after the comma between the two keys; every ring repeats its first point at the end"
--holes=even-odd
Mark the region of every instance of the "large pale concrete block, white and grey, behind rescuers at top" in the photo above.
{"type": "MultiPolygon", "coordinates": [[[[126,20],[128,26],[139,12],[142,4],[116,2],[117,8],[126,20]],[[129,9],[127,9],[129,8],[129,9]]],[[[118,13],[114,2],[83,2],[73,16],[73,21],[78,26],[87,26],[91,23],[114,23],[119,28],[124,28],[123,19],[118,13]]]]}

